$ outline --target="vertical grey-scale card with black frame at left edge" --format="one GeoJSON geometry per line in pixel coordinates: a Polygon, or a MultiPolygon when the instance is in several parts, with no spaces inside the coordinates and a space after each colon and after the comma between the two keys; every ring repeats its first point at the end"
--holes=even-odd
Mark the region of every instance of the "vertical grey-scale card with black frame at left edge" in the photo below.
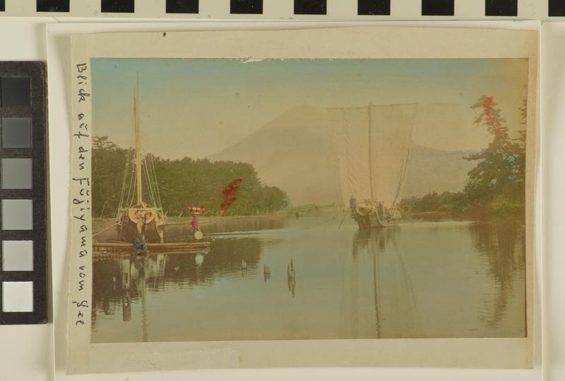
{"type": "Polygon", "coordinates": [[[45,68],[0,62],[0,324],[47,322],[45,68]]]}

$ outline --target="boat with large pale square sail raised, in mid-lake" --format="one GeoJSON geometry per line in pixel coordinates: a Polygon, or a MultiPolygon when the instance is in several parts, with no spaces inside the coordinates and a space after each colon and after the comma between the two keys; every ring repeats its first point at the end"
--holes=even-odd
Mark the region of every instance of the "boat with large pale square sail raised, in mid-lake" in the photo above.
{"type": "Polygon", "coordinates": [[[369,104],[328,109],[338,156],[343,205],[359,229],[400,219],[406,164],[417,104],[369,104]]]}

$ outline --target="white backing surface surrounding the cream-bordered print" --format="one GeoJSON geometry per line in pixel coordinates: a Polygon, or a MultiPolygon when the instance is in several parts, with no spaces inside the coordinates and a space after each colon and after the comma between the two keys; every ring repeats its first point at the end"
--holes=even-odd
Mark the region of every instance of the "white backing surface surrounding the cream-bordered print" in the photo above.
{"type": "MultiPolygon", "coordinates": [[[[8,0],[10,1],[10,0],[8,0]]],[[[456,1],[457,3],[457,1],[456,1]]],[[[456,4],[457,7],[457,4],[456,4]]],[[[71,19],[65,19],[71,21],[71,19]]],[[[0,18],[1,60],[47,60],[47,32],[45,23],[57,23],[54,18],[0,18]]],[[[390,24],[390,23],[387,23],[390,24]]],[[[490,28],[516,28],[517,23],[473,24],[490,28]]],[[[285,23],[283,26],[291,25],[285,23]]],[[[324,25],[328,25],[325,23],[324,25]]],[[[359,23],[355,23],[359,25],[359,23]]],[[[381,24],[384,25],[384,24],[381,24]]],[[[397,24],[398,25],[398,24],[397,24]]],[[[422,25],[422,23],[420,23],[422,25]]],[[[469,26],[469,23],[428,23],[434,26],[469,26]]],[[[520,25],[523,25],[520,23],[520,25]]],[[[195,28],[259,28],[256,23],[169,23],[167,30],[195,28]]],[[[535,28],[535,23],[529,24],[535,28]]],[[[541,136],[540,136],[540,186],[538,197],[543,197],[538,208],[538,227],[544,230],[538,237],[536,260],[537,304],[543,307],[543,317],[537,316],[538,337],[543,329],[544,339],[537,345],[537,361],[533,370],[463,370],[463,369],[300,369],[300,370],[198,370],[145,374],[78,375],[66,376],[64,370],[65,314],[66,314],[66,236],[69,219],[69,125],[64,78],[66,67],[60,66],[65,57],[66,39],[75,32],[100,32],[109,30],[162,30],[158,24],[105,25],[50,25],[49,38],[49,182],[51,188],[50,212],[52,220],[52,311],[55,324],[28,326],[0,326],[0,380],[482,380],[482,381],[539,381],[565,380],[565,301],[561,297],[565,280],[559,275],[565,271],[565,258],[561,257],[561,231],[565,217],[563,198],[565,182],[561,163],[565,162],[565,24],[542,27],[542,85],[541,136]],[[79,31],[80,30],[80,31],[79,31]],[[545,213],[543,216],[541,212],[545,213]],[[543,224],[541,224],[543,223],[543,224]],[[540,270],[545,277],[540,277],[540,270]],[[540,298],[543,289],[544,297],[540,298]],[[541,348],[540,348],[541,346],[541,348]],[[543,368],[540,351],[543,349],[543,368]],[[545,376],[545,377],[543,377],[545,376]]]]}

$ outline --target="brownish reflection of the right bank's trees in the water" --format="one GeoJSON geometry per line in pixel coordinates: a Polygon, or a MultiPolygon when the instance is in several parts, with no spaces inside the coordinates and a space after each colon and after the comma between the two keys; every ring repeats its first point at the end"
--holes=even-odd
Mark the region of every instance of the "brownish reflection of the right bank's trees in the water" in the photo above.
{"type": "Polygon", "coordinates": [[[523,221],[494,221],[475,224],[470,229],[478,253],[487,262],[487,276],[499,286],[494,306],[489,308],[489,300],[485,300],[480,319],[489,327],[497,327],[506,315],[509,297],[520,292],[525,294],[525,282],[521,291],[513,289],[516,274],[525,273],[523,221]]]}

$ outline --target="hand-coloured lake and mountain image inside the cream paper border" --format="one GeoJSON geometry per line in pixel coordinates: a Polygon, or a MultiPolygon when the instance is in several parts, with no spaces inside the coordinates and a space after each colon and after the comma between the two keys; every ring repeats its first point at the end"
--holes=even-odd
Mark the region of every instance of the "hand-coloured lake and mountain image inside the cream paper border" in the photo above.
{"type": "Polygon", "coordinates": [[[528,59],[90,67],[93,343],[526,337],[528,59]]]}

